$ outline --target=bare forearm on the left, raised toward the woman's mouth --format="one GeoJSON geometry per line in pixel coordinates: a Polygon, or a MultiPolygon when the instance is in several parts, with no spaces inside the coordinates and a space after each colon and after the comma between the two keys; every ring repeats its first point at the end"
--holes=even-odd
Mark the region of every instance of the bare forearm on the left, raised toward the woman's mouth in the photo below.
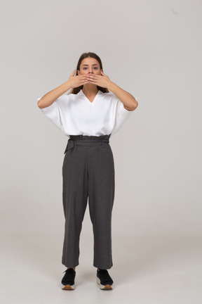
{"type": "Polygon", "coordinates": [[[51,104],[56,99],[58,99],[58,97],[60,97],[69,89],[71,89],[71,87],[69,86],[69,81],[67,81],[64,84],[61,84],[59,87],[53,89],[52,91],[49,91],[38,101],[37,104],[39,108],[46,108],[48,106],[51,106],[51,104]]]}

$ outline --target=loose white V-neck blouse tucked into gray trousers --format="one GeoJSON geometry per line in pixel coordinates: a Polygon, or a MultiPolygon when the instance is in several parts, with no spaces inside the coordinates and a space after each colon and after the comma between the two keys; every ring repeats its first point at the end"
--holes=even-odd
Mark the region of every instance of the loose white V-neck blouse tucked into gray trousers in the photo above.
{"type": "Polygon", "coordinates": [[[68,137],[80,134],[111,134],[112,137],[135,111],[126,110],[112,92],[103,93],[99,90],[93,102],[90,102],[82,89],[77,94],[63,94],[52,105],[40,110],[68,137]]]}

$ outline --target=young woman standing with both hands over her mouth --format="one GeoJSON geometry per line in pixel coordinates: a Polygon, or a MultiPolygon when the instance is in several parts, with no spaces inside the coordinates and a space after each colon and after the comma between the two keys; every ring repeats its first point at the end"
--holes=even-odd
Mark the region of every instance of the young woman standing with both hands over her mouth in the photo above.
{"type": "Polygon", "coordinates": [[[74,289],[79,265],[79,238],[87,200],[93,224],[94,260],[100,289],[112,289],[112,208],[114,157],[109,137],[137,108],[137,100],[112,82],[100,57],[83,53],[69,80],[39,97],[38,106],[69,137],[62,165],[62,202],[65,238],[62,278],[65,290],[74,289]],[[72,89],[69,94],[66,91],[72,89]]]}

